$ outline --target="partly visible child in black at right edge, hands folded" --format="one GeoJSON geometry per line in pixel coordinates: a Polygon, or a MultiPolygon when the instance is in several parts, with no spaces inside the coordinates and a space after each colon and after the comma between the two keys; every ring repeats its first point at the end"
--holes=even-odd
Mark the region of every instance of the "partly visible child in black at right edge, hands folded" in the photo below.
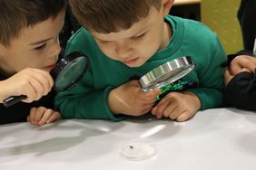
{"type": "Polygon", "coordinates": [[[255,0],[241,0],[238,19],[245,50],[229,55],[229,67],[225,71],[227,104],[239,109],[256,110],[255,7],[255,0]]]}

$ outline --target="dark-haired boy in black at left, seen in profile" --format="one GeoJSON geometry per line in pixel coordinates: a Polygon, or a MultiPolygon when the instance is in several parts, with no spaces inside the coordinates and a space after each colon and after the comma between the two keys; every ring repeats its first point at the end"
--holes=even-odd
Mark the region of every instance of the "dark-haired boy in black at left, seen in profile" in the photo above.
{"type": "Polygon", "coordinates": [[[66,4],[65,0],[0,1],[0,124],[28,120],[42,126],[60,118],[53,110],[54,80],[49,71],[61,50],[58,34],[66,4]],[[20,95],[27,98],[4,107],[4,99],[20,95]]]}

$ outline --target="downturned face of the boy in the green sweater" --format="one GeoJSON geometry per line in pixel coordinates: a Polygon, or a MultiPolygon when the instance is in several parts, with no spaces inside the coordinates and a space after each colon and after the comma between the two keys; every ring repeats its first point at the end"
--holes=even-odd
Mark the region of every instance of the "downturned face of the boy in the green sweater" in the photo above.
{"type": "Polygon", "coordinates": [[[129,67],[140,67],[169,42],[164,16],[162,10],[152,7],[148,16],[130,29],[107,34],[93,32],[92,35],[106,56],[129,67]]]}

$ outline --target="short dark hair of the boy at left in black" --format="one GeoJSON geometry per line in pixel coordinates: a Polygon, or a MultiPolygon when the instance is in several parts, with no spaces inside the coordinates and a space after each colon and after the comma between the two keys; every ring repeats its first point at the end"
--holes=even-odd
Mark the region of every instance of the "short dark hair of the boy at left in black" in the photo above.
{"type": "Polygon", "coordinates": [[[66,0],[0,0],[0,43],[10,45],[23,28],[55,18],[66,5],[66,0]]]}

